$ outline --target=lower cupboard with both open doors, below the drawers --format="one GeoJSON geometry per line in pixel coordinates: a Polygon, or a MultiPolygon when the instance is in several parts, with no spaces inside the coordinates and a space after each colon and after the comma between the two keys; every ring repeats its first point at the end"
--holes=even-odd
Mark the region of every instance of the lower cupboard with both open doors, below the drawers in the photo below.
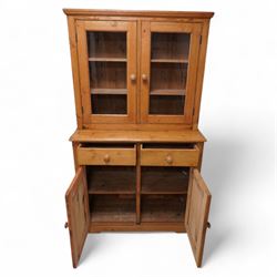
{"type": "Polygon", "coordinates": [[[89,233],[186,232],[201,266],[211,193],[197,168],[85,165],[66,195],[73,266],[89,233]]]}

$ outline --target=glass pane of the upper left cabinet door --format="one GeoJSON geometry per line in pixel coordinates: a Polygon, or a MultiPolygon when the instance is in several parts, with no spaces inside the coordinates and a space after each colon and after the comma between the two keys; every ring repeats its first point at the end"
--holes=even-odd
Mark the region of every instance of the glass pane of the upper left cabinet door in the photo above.
{"type": "Polygon", "coordinates": [[[126,114],[126,33],[88,32],[93,114],[126,114]]]}

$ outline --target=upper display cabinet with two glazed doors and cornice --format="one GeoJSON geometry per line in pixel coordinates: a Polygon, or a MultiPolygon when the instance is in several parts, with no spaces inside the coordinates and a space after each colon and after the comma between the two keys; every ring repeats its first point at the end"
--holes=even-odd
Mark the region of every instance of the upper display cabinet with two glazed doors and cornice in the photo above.
{"type": "Polygon", "coordinates": [[[197,127],[213,13],[66,13],[78,127],[197,127]]]}

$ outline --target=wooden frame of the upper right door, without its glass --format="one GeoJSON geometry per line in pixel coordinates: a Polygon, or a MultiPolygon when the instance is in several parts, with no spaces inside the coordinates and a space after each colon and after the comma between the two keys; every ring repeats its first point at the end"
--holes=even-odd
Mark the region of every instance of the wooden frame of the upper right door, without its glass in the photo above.
{"type": "Polygon", "coordinates": [[[147,82],[141,80],[141,122],[142,123],[183,123],[192,124],[195,88],[197,80],[198,54],[201,49],[202,23],[142,21],[141,75],[148,76],[147,82]],[[150,115],[150,81],[151,81],[151,32],[191,33],[188,54],[186,99],[184,115],[150,115]]]}

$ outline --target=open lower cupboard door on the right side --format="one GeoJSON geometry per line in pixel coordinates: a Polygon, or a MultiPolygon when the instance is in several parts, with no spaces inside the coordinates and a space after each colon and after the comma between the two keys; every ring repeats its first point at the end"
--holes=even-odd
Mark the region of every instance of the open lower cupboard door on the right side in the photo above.
{"type": "Polygon", "coordinates": [[[197,267],[202,265],[212,195],[198,170],[191,168],[185,227],[197,267]]]}

